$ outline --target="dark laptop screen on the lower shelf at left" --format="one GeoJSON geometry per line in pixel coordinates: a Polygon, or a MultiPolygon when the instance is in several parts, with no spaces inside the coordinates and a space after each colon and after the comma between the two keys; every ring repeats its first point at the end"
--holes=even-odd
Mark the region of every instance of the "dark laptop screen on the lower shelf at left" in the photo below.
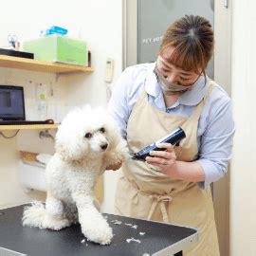
{"type": "Polygon", "coordinates": [[[0,85],[0,119],[26,119],[22,86],[0,85]]]}

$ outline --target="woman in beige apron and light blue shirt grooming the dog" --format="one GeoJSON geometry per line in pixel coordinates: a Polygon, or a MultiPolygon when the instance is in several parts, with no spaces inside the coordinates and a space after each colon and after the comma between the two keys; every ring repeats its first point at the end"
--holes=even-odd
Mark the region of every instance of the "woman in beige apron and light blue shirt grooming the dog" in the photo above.
{"type": "Polygon", "coordinates": [[[205,74],[213,41],[205,18],[177,20],[156,63],[128,67],[109,102],[131,151],[177,127],[186,133],[178,147],[160,144],[165,151],[146,162],[123,163],[115,202],[120,215],[198,229],[199,242],[185,255],[219,255],[210,183],[227,172],[234,122],[229,96],[205,74]]]}

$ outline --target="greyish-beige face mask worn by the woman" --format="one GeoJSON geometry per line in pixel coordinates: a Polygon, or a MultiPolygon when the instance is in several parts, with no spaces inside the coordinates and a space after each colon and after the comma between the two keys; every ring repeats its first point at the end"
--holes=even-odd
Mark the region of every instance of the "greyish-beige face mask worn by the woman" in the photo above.
{"type": "Polygon", "coordinates": [[[168,82],[165,79],[165,77],[158,71],[156,65],[155,65],[154,73],[155,73],[157,82],[159,83],[160,87],[162,88],[163,92],[166,95],[181,94],[192,89],[192,86],[190,85],[184,86],[174,82],[168,82]]]}

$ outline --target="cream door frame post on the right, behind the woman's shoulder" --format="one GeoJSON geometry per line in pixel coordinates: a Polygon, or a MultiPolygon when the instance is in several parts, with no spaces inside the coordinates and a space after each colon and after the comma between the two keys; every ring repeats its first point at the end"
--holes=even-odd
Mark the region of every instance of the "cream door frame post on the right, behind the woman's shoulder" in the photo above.
{"type": "MultiPolygon", "coordinates": [[[[214,3],[214,80],[228,92],[229,97],[231,97],[231,5],[231,0],[215,0],[214,3]]],[[[228,173],[213,184],[212,194],[220,252],[223,256],[229,256],[230,251],[229,181],[230,167],[228,173]]]]}

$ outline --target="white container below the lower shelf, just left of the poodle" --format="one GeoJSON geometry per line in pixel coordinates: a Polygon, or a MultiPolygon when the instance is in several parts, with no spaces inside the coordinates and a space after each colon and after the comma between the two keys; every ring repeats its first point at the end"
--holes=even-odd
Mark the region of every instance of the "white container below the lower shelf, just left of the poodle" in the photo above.
{"type": "Polygon", "coordinates": [[[46,192],[46,168],[30,165],[19,160],[18,176],[22,186],[27,190],[46,192]]]}

